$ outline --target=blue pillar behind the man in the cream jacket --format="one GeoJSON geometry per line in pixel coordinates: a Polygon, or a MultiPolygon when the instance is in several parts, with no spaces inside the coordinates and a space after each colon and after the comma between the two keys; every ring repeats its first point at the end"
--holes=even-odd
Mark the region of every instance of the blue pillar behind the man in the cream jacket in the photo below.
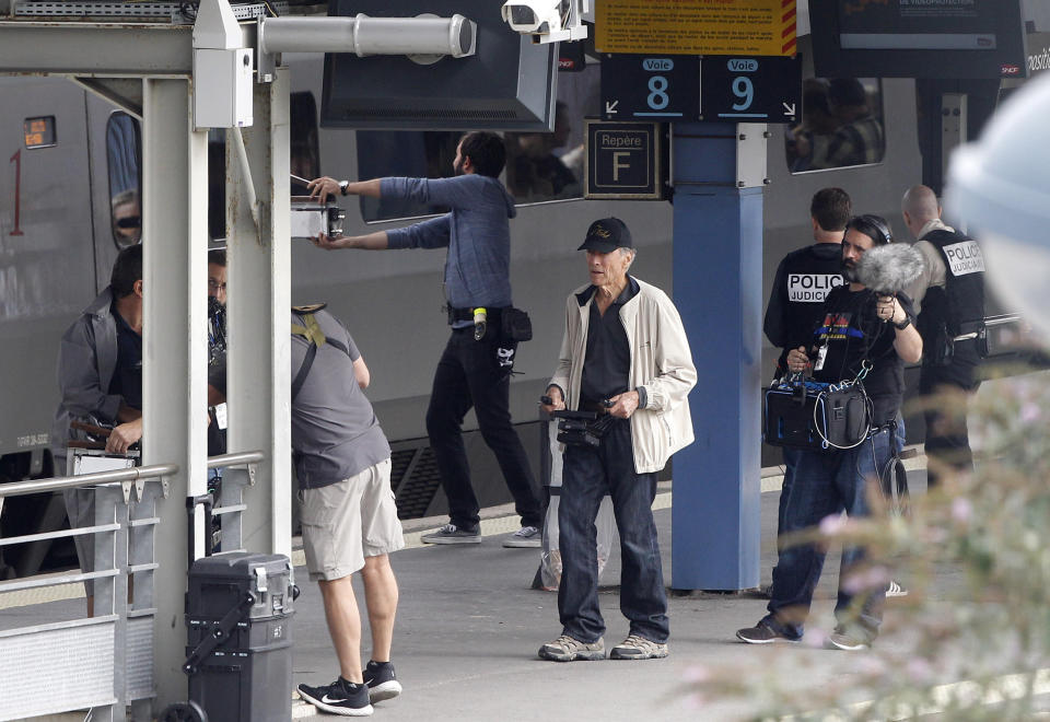
{"type": "Polygon", "coordinates": [[[677,590],[759,583],[765,140],[761,168],[738,167],[758,162],[742,151],[744,128],[674,125],[674,300],[699,374],[689,397],[697,440],[674,459],[677,590]],[[756,173],[757,187],[738,186],[756,173]]]}

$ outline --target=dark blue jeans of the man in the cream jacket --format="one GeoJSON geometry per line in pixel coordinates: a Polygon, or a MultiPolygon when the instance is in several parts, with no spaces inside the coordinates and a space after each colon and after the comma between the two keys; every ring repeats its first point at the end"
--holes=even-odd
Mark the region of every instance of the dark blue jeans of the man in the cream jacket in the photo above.
{"type": "Polygon", "coordinates": [[[620,534],[620,612],[630,633],[667,641],[667,592],[653,521],[656,475],[635,474],[631,424],[618,420],[602,445],[568,446],[558,508],[561,585],[558,612],[562,633],[592,643],[605,633],[598,608],[598,556],[594,520],[602,498],[612,499],[620,534]]]}

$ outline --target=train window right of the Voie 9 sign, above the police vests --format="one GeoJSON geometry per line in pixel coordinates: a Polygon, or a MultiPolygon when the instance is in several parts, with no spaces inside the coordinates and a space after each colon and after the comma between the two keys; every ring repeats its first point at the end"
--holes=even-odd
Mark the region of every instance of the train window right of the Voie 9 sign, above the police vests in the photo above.
{"type": "Polygon", "coordinates": [[[886,149],[883,91],[875,78],[808,78],[802,123],[785,127],[792,173],[879,163],[886,149]]]}

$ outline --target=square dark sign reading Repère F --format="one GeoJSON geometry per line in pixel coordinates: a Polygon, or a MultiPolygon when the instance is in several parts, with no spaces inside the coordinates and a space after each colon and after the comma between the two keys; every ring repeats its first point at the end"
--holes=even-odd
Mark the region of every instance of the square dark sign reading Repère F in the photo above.
{"type": "Polygon", "coordinates": [[[586,120],[584,198],[663,198],[663,144],[658,123],[586,120]]]}

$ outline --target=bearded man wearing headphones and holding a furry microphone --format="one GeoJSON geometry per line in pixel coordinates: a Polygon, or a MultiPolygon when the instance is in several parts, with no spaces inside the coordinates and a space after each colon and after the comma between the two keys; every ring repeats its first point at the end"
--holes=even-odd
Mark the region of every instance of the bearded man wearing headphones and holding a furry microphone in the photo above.
{"type": "MultiPolygon", "coordinates": [[[[842,275],[849,283],[828,293],[814,345],[788,353],[791,371],[812,370],[818,382],[862,377],[872,416],[870,432],[860,444],[805,450],[798,455],[784,510],[785,534],[817,526],[843,508],[850,516],[870,515],[870,479],[877,484],[878,469],[892,454],[895,419],[905,389],[903,365],[922,357],[922,338],[913,325],[911,300],[903,293],[878,295],[860,282],[856,272],[858,261],[867,251],[891,242],[889,226],[878,216],[850,220],[842,241],[842,275]]],[[[842,557],[842,573],[849,575],[860,569],[865,552],[847,548],[842,557]]],[[[783,549],[773,569],[769,614],[755,627],[738,630],[737,638],[750,644],[801,640],[822,564],[824,552],[814,544],[783,549]]],[[[840,585],[835,609],[838,626],[827,645],[841,650],[870,647],[882,622],[885,594],[883,583],[858,595],[840,585]]]]}

